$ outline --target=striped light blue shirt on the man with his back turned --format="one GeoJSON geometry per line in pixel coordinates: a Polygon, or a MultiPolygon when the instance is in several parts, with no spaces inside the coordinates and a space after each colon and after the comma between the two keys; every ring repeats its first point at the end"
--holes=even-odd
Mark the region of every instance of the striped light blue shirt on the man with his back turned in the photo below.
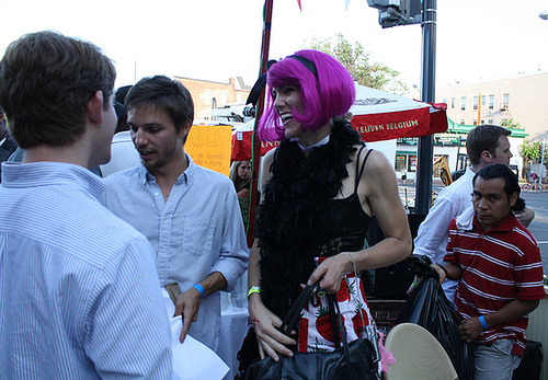
{"type": "Polygon", "coordinates": [[[2,166],[0,378],[171,378],[171,335],[147,240],[67,163],[2,166]]]}

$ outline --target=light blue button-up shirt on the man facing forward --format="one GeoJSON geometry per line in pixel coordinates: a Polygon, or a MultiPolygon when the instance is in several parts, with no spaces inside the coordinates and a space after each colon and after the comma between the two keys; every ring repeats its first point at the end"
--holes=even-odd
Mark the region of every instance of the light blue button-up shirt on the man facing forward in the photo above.
{"type": "MultiPolygon", "coordinates": [[[[148,238],[157,253],[161,285],[178,283],[186,291],[214,272],[233,289],[248,267],[248,245],[233,183],[196,165],[181,174],[164,201],[156,177],[139,164],[105,179],[101,201],[148,238]]],[[[217,350],[220,295],[205,298],[189,332],[217,350]]]]}

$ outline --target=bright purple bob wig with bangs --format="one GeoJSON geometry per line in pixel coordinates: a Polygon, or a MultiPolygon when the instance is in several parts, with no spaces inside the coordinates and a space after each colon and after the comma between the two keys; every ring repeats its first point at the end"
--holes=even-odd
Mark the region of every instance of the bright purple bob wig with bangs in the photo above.
{"type": "MultiPolygon", "coordinates": [[[[294,110],[293,117],[304,130],[317,130],[332,117],[343,116],[354,103],[356,90],[346,69],[333,57],[317,50],[300,50],[295,56],[305,57],[316,66],[317,76],[301,61],[289,56],[272,65],[266,73],[266,84],[296,85],[302,100],[301,113],[294,110]]],[[[261,117],[259,138],[263,141],[284,139],[284,125],[274,108],[274,99],[267,91],[266,106],[261,117]]]]}

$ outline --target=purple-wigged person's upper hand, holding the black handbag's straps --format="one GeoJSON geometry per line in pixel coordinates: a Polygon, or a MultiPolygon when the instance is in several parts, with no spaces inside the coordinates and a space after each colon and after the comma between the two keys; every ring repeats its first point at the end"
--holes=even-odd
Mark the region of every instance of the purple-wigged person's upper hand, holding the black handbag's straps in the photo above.
{"type": "Polygon", "coordinates": [[[312,272],[307,285],[310,286],[321,279],[320,288],[330,293],[338,292],[341,289],[342,277],[351,266],[352,257],[346,252],[328,257],[312,272]]]}

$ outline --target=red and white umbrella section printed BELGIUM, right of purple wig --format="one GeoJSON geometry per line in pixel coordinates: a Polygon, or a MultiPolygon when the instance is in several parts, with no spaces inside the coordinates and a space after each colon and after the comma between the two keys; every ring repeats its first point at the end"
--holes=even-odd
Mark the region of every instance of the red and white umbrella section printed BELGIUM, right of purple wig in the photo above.
{"type": "Polygon", "coordinates": [[[423,137],[447,130],[446,104],[429,104],[356,84],[352,125],[364,141],[423,137]]]}

